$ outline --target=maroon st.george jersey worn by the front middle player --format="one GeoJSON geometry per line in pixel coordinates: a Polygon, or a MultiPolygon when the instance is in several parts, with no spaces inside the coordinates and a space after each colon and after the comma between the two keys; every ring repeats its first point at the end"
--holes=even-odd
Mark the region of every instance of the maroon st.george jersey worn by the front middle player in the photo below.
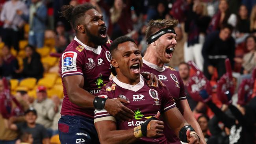
{"type": "MultiPolygon", "coordinates": [[[[134,111],[134,119],[130,122],[117,121],[117,127],[120,130],[139,126],[148,118],[156,115],[158,111],[163,113],[175,107],[174,100],[167,88],[150,87],[142,76],[140,76],[140,82],[137,85],[122,83],[117,77],[104,86],[97,95],[104,96],[105,98],[124,98],[130,101],[125,106],[134,111]]],[[[94,122],[102,120],[116,121],[106,110],[95,110],[94,122]]],[[[162,136],[158,138],[141,137],[135,143],[166,144],[166,142],[165,136],[162,136]]]]}

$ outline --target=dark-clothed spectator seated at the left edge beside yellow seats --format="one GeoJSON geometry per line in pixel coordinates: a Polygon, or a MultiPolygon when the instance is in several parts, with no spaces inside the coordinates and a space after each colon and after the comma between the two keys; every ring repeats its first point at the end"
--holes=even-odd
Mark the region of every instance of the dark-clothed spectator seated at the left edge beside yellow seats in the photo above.
{"type": "Polygon", "coordinates": [[[0,76],[7,79],[17,78],[16,70],[19,70],[19,64],[16,57],[11,54],[11,48],[5,45],[2,48],[2,57],[0,58],[0,76]]]}

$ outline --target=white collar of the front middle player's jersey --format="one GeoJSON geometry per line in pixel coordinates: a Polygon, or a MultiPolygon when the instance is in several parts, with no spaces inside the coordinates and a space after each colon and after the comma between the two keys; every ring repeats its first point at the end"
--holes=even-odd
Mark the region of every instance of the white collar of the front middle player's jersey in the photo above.
{"type": "Polygon", "coordinates": [[[130,85],[130,84],[127,84],[127,83],[123,83],[121,81],[119,81],[117,79],[117,77],[113,78],[113,81],[119,85],[120,87],[124,88],[124,89],[128,89],[128,90],[132,90],[134,92],[137,92],[138,90],[140,90],[141,88],[143,88],[144,86],[144,78],[143,76],[140,75],[140,81],[139,83],[137,83],[136,85],[130,85]]]}

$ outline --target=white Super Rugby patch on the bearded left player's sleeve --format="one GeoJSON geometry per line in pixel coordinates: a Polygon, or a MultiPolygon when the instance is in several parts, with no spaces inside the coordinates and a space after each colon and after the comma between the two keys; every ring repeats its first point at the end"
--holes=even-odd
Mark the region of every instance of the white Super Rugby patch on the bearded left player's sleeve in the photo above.
{"type": "Polygon", "coordinates": [[[76,71],[76,52],[65,52],[61,56],[61,73],[76,71]]]}

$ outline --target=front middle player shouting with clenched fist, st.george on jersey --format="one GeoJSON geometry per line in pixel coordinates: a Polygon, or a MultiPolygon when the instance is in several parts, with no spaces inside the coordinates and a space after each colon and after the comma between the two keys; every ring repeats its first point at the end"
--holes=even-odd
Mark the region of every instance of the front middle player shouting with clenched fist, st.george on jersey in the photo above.
{"type": "Polygon", "coordinates": [[[126,107],[135,112],[134,118],[120,122],[107,110],[95,110],[95,127],[102,144],[166,144],[160,113],[176,135],[189,144],[199,144],[200,139],[188,126],[175,107],[169,90],[150,87],[141,74],[142,57],[133,39],[123,36],[110,46],[111,65],[116,77],[98,93],[98,97],[129,100],[126,107]]]}

